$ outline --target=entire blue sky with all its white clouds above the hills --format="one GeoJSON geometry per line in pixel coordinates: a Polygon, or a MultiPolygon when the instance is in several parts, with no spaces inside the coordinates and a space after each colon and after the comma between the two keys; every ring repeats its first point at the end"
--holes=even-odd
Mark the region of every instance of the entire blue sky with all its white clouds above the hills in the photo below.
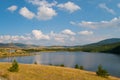
{"type": "Polygon", "coordinates": [[[73,46],[119,33],[120,0],[0,0],[0,43],[73,46]]]}

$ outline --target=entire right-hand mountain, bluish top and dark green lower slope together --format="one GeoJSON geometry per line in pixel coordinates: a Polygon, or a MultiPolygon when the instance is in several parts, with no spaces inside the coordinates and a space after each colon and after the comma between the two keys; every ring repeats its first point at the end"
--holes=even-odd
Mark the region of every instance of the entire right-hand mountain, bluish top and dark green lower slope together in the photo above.
{"type": "Polygon", "coordinates": [[[105,52],[120,54],[120,38],[111,38],[100,41],[98,43],[82,46],[85,52],[105,52]]]}

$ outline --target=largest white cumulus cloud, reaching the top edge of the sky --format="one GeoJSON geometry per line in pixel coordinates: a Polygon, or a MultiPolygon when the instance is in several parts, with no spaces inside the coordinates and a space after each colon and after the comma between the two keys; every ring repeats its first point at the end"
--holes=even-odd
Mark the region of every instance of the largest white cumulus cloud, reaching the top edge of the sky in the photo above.
{"type": "Polygon", "coordinates": [[[39,20],[50,20],[57,15],[57,12],[53,9],[53,6],[57,4],[56,1],[49,3],[46,0],[28,0],[28,2],[37,6],[36,18],[39,20]]]}

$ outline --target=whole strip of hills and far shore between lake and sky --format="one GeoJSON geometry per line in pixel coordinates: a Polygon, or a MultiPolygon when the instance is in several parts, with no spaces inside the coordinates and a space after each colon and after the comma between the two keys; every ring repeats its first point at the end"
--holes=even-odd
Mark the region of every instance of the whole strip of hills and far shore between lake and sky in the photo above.
{"type": "Polygon", "coordinates": [[[15,47],[22,49],[30,48],[33,51],[84,51],[120,54],[120,38],[105,39],[97,43],[92,43],[84,46],[37,46],[22,43],[0,43],[0,48],[4,47],[15,47]]]}

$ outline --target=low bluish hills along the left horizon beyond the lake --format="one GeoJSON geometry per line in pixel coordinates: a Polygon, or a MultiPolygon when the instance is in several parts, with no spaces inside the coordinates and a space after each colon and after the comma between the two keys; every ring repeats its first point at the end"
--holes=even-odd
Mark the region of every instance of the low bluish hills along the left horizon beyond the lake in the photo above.
{"type": "Polygon", "coordinates": [[[22,44],[22,43],[0,43],[0,47],[4,48],[34,48],[38,47],[36,45],[31,45],[31,44],[22,44]]]}

